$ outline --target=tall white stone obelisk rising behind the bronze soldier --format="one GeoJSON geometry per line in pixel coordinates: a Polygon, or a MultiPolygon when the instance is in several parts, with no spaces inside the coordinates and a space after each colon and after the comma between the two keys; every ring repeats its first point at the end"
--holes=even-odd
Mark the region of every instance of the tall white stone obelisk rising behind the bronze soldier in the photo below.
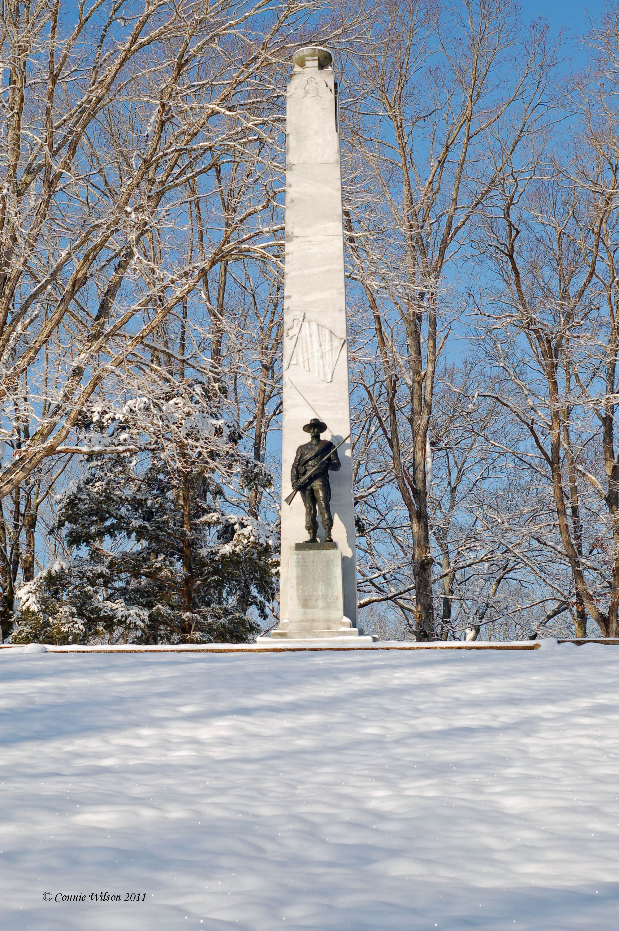
{"type": "MultiPolygon", "coordinates": [[[[314,417],[322,420],[328,429],[321,439],[336,445],[350,434],[337,82],[325,48],[302,48],[293,61],[286,111],[282,499],[291,491],[297,447],[309,439],[303,425],[314,417]]],[[[337,552],[295,552],[295,544],[307,540],[303,500],[301,494],[290,506],[282,500],[281,623],[276,637],[304,636],[299,630],[314,637],[342,636],[351,628],[346,619],[352,622],[349,636],[357,636],[350,440],[339,456],[341,470],[330,472],[337,552]]],[[[318,537],[323,537],[321,526],[318,537]]]]}

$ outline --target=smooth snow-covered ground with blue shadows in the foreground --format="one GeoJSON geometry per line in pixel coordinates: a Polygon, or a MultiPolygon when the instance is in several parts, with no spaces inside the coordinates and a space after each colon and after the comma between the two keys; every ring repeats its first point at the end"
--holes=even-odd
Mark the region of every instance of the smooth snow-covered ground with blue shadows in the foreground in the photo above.
{"type": "Polygon", "coordinates": [[[619,647],[10,653],[7,931],[619,925],[619,647]]]}

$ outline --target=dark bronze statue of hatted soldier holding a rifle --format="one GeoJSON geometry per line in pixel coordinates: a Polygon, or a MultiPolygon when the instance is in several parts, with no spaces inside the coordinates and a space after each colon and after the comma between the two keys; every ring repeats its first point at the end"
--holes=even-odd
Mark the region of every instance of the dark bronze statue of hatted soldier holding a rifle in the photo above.
{"type": "Polygon", "coordinates": [[[305,433],[309,433],[312,439],[297,450],[290,474],[292,488],[295,492],[301,492],[303,498],[305,529],[309,533],[308,543],[318,542],[316,538],[316,531],[318,530],[316,506],[320,511],[320,520],[325,531],[325,543],[332,542],[333,518],[329,506],[331,498],[329,473],[330,471],[338,472],[342,467],[342,463],[333,443],[329,439],[320,439],[320,434],[324,433],[326,429],[327,425],[323,424],[317,417],[313,417],[309,424],[304,425],[303,430],[305,433]],[[310,472],[312,473],[311,477],[308,476],[310,472]],[[303,481],[304,476],[308,476],[306,481],[303,481]]]}

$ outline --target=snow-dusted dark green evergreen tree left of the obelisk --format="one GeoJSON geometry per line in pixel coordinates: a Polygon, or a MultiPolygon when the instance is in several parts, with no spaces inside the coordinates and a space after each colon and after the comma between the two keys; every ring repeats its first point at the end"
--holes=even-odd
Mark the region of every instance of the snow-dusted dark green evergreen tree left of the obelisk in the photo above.
{"type": "Polygon", "coordinates": [[[93,449],[119,452],[89,457],[62,496],[57,529],[78,555],[20,589],[12,641],[248,641],[276,560],[257,520],[225,507],[222,479],[268,480],[234,425],[194,383],[98,408],[86,426],[93,449]]]}

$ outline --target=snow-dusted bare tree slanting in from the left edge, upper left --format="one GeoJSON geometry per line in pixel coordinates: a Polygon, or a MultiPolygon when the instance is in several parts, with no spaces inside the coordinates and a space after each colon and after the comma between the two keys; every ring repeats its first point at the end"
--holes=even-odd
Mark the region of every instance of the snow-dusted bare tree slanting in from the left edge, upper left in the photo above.
{"type": "MultiPolygon", "coordinates": [[[[279,104],[254,77],[288,54],[309,10],[266,0],[93,0],[75,17],[60,0],[4,7],[2,397],[50,347],[56,356],[47,410],[34,404],[1,495],[67,445],[106,374],[158,338],[211,270],[224,284],[230,262],[263,253],[268,231],[254,221],[276,196],[264,147],[279,104]],[[192,185],[203,236],[188,262],[178,233],[192,185]]],[[[204,297],[217,307],[206,287],[204,297]]]]}

